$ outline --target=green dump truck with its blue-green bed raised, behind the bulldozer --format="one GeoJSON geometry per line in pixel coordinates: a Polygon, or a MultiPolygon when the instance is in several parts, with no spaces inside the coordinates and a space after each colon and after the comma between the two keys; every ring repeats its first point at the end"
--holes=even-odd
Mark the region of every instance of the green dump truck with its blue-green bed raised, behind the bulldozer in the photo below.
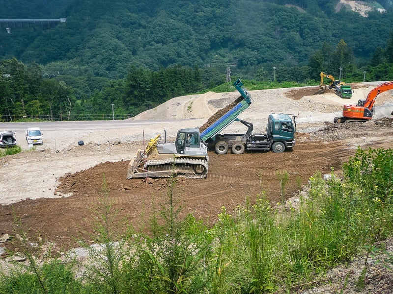
{"type": "Polygon", "coordinates": [[[225,154],[228,150],[234,154],[267,150],[280,153],[287,148],[293,148],[295,146],[295,116],[292,120],[288,114],[272,113],[268,117],[266,133],[254,134],[252,133],[253,123],[238,118],[252,103],[251,95],[243,87],[240,79],[234,82],[234,86],[242,95],[243,100],[201,132],[201,140],[206,143],[207,147],[215,150],[217,154],[225,154]],[[221,134],[229,124],[235,121],[247,126],[247,132],[244,134],[221,134]]]}

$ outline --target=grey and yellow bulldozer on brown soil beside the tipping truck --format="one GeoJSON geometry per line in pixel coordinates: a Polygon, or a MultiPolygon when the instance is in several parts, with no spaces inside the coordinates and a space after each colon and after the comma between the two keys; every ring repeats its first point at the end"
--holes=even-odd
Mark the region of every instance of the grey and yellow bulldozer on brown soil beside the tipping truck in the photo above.
{"type": "Polygon", "coordinates": [[[164,142],[161,135],[150,139],[144,150],[139,149],[128,165],[127,179],[180,176],[204,178],[209,169],[207,146],[200,140],[199,128],[177,132],[175,142],[164,142]]]}

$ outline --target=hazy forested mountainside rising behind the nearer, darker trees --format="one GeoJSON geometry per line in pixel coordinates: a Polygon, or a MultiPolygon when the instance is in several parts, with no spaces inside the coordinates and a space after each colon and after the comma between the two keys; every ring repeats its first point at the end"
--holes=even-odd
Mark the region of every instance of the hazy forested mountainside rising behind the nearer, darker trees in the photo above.
{"type": "Polygon", "coordinates": [[[335,48],[340,39],[355,58],[369,59],[386,45],[393,29],[392,2],[386,0],[44,3],[5,3],[2,19],[67,21],[53,28],[11,24],[10,34],[1,23],[0,58],[36,61],[49,73],[74,76],[122,78],[130,64],[151,70],[175,64],[225,70],[232,65],[244,72],[302,66],[325,42],[335,48]]]}

